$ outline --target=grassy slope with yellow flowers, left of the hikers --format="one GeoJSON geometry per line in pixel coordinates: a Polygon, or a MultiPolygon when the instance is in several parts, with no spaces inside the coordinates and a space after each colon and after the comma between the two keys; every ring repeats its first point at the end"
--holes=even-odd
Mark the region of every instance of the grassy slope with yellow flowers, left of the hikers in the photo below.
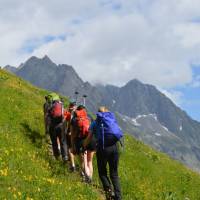
{"type": "Polygon", "coordinates": [[[0,199],[102,199],[48,155],[45,93],[0,70],[0,199]]]}

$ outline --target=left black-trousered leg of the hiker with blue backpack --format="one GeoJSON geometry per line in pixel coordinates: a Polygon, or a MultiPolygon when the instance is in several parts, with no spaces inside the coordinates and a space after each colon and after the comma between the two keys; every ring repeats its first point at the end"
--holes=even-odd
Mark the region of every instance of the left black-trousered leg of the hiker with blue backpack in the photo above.
{"type": "Polygon", "coordinates": [[[107,175],[107,153],[103,150],[97,150],[97,167],[99,178],[101,179],[104,190],[107,192],[111,188],[111,183],[107,175]]]}

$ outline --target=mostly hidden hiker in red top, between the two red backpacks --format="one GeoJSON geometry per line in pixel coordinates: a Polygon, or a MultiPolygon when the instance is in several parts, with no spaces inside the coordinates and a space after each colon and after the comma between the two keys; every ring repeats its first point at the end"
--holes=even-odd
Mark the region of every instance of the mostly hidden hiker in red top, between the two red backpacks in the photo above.
{"type": "Polygon", "coordinates": [[[76,102],[70,102],[68,109],[65,111],[64,116],[66,120],[66,142],[68,149],[68,156],[70,160],[70,171],[74,172],[76,170],[74,154],[72,153],[72,139],[71,139],[71,119],[73,117],[73,113],[76,110],[76,102]]]}

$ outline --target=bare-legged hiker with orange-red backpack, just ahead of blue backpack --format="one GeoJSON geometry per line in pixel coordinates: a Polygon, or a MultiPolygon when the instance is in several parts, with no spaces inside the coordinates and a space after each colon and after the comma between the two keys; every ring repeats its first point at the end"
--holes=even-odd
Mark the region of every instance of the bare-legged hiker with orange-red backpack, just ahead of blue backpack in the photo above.
{"type": "Polygon", "coordinates": [[[90,126],[90,120],[87,116],[85,106],[79,105],[77,107],[71,125],[73,153],[79,155],[82,179],[83,181],[91,182],[92,172],[90,169],[93,153],[88,153],[83,148],[83,141],[88,135],[88,129],[90,126]]]}

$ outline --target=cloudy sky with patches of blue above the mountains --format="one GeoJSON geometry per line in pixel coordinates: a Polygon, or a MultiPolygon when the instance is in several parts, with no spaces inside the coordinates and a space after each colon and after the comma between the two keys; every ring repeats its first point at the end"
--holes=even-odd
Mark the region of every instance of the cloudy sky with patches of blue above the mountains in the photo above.
{"type": "Polygon", "coordinates": [[[0,0],[0,66],[48,55],[83,80],[153,84],[200,121],[199,0],[0,0]]]}

